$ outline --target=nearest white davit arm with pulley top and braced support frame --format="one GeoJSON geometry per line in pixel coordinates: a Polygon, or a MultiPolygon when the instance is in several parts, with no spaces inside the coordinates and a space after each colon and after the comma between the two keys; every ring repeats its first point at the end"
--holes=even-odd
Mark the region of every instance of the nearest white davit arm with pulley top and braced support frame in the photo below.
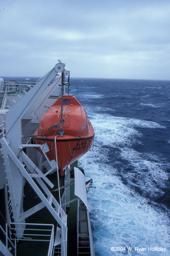
{"type": "MultiPolygon", "coordinates": [[[[25,229],[25,219],[43,207],[47,207],[47,209],[62,227],[62,256],[67,255],[67,215],[43,181],[45,181],[51,188],[54,185],[45,175],[43,175],[41,170],[35,166],[35,164],[23,151],[23,146],[26,145],[23,145],[22,143],[21,120],[33,104],[37,105],[37,109],[42,105],[44,99],[51,93],[51,89],[47,87],[48,84],[52,79],[54,79],[55,76],[57,76],[59,72],[64,71],[64,63],[59,62],[56,64],[56,66],[45,76],[43,76],[37,82],[37,84],[35,84],[34,87],[32,87],[31,90],[26,93],[25,96],[23,96],[12,108],[10,108],[6,116],[6,135],[0,139],[0,143],[3,148],[7,182],[6,204],[9,207],[8,225],[14,221],[16,237],[17,239],[21,239],[25,229]],[[36,176],[31,176],[33,172],[36,174],[36,176]],[[42,201],[40,204],[26,212],[23,212],[24,178],[28,181],[42,201]],[[35,183],[34,179],[36,179],[39,183],[39,187],[35,183]],[[10,215],[14,219],[13,221],[11,221],[10,215]]],[[[60,79],[57,79],[58,84],[59,82],[60,79]]]]}

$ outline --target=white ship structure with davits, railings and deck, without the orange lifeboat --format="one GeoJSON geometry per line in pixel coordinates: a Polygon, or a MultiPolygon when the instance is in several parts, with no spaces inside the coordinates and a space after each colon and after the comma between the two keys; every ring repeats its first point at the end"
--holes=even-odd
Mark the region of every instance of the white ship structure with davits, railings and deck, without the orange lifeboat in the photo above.
{"type": "MultiPolygon", "coordinates": [[[[61,61],[35,84],[26,81],[25,87],[20,87],[16,81],[6,83],[0,80],[0,143],[1,163],[3,160],[4,166],[0,172],[0,188],[4,186],[6,204],[6,221],[0,226],[1,255],[20,255],[18,252],[22,252],[22,244],[28,244],[26,248],[29,248],[30,255],[30,247],[36,250],[37,243],[41,244],[40,248],[45,244],[48,247],[40,255],[73,255],[71,245],[68,250],[68,237],[72,232],[68,229],[71,225],[68,219],[74,222],[75,218],[77,255],[95,255],[87,188],[81,168],[78,168],[77,162],[68,163],[61,176],[57,155],[52,160],[49,157],[51,148],[48,143],[44,140],[35,144],[32,140],[42,115],[60,94],[63,95],[65,85],[70,85],[69,72],[61,61]],[[68,83],[63,77],[68,77],[68,83]],[[51,80],[54,81],[51,83],[51,80]],[[71,209],[75,210],[75,203],[77,212],[73,219],[71,209]],[[71,208],[72,204],[74,207],[71,208]],[[28,223],[27,220],[33,221],[28,223]],[[16,250],[17,247],[19,250],[16,250]]],[[[54,143],[54,146],[57,144],[54,143]]],[[[87,186],[89,184],[91,187],[92,182],[87,186]]]]}

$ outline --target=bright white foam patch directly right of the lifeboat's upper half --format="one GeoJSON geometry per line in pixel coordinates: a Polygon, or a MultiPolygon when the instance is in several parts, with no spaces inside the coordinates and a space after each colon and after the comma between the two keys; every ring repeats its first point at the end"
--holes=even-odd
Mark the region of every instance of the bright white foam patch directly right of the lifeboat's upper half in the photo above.
{"type": "Polygon", "coordinates": [[[116,117],[109,114],[91,114],[89,112],[88,116],[94,127],[95,139],[103,145],[113,147],[136,143],[136,137],[142,136],[142,133],[136,130],[137,127],[166,128],[156,122],[142,119],[116,117]],[[103,140],[103,138],[105,139],[103,140]]]}

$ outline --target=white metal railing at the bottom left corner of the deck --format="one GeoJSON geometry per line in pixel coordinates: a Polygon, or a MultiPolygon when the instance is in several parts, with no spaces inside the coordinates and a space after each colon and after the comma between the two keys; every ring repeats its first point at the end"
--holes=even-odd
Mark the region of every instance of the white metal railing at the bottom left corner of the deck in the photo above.
{"type": "MultiPolygon", "coordinates": [[[[14,233],[13,233],[14,236],[17,235],[16,226],[15,226],[16,224],[26,225],[26,228],[23,228],[24,230],[23,237],[20,239],[17,239],[17,241],[28,241],[28,242],[39,241],[43,243],[47,242],[48,256],[53,255],[53,250],[54,250],[54,225],[53,224],[11,223],[11,230],[14,230],[14,233]],[[14,227],[12,227],[13,225],[14,227]],[[37,227],[37,228],[33,228],[33,227],[37,227]]],[[[13,239],[15,238],[11,238],[11,240],[13,239]]]]}

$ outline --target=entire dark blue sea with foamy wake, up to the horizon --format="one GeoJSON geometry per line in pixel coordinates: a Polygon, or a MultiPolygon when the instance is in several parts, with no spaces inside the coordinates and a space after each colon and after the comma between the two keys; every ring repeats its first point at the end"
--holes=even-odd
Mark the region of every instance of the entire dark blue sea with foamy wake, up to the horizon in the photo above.
{"type": "Polygon", "coordinates": [[[95,131],[79,164],[96,256],[170,256],[170,81],[70,81],[95,131]]]}

